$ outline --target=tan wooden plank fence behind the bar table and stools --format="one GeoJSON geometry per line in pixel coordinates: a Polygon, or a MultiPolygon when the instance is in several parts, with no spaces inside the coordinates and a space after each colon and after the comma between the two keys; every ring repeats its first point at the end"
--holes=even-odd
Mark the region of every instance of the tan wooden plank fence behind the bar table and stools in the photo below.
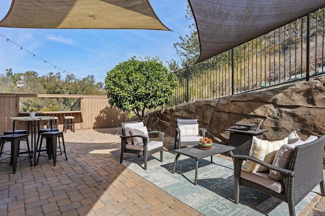
{"type": "MultiPolygon", "coordinates": [[[[0,93],[0,135],[12,130],[10,117],[27,116],[29,113],[19,112],[19,101],[22,97],[69,97],[80,98],[80,111],[36,112],[36,116],[56,116],[59,119],[59,130],[63,129],[63,117],[75,117],[75,129],[93,129],[120,127],[127,114],[108,104],[106,95],[61,95],[61,94],[12,94],[0,93]]],[[[41,123],[45,127],[46,122],[41,123]]],[[[16,129],[26,129],[27,123],[17,122],[16,129]]],[[[69,127],[68,127],[69,128],[69,127]]]]}

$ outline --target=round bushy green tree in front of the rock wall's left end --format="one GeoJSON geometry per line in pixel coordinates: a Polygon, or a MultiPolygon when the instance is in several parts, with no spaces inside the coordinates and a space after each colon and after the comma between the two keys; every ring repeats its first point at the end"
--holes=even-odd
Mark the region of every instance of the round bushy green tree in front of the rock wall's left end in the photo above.
{"type": "Polygon", "coordinates": [[[109,104],[124,112],[134,111],[143,121],[145,109],[168,104],[176,78],[159,58],[132,57],[107,72],[105,89],[109,104]]]}

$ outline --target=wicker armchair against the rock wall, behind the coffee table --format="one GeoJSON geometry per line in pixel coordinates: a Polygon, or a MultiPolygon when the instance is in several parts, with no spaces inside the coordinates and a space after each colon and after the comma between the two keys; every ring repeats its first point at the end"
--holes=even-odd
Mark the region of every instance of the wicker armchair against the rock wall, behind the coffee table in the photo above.
{"type": "Polygon", "coordinates": [[[198,119],[177,119],[175,133],[175,149],[176,143],[178,148],[182,146],[196,146],[201,137],[205,137],[207,130],[199,128],[198,119]],[[202,136],[200,136],[200,130],[202,136]]]}

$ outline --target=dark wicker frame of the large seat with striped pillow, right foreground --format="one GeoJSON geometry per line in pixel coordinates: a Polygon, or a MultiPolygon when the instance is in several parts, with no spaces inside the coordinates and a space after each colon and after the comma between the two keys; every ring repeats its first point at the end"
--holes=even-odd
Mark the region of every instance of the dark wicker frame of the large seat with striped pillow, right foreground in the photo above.
{"type": "Polygon", "coordinates": [[[324,143],[325,135],[312,142],[297,146],[286,169],[273,166],[251,156],[233,156],[235,203],[239,203],[239,186],[245,186],[288,203],[290,215],[296,215],[295,206],[318,184],[320,185],[321,195],[325,196],[322,170],[324,143]],[[282,181],[276,181],[276,183],[282,184],[283,191],[275,192],[269,187],[247,180],[247,177],[246,179],[243,178],[244,173],[241,173],[243,171],[241,170],[243,160],[251,160],[280,172],[282,181]]]}

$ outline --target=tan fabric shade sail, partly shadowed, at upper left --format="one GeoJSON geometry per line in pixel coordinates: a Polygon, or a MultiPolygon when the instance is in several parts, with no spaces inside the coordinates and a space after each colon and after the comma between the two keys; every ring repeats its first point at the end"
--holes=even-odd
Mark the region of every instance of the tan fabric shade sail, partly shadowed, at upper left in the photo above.
{"type": "Polygon", "coordinates": [[[169,30],[147,0],[13,0],[0,26],[169,30]]]}

